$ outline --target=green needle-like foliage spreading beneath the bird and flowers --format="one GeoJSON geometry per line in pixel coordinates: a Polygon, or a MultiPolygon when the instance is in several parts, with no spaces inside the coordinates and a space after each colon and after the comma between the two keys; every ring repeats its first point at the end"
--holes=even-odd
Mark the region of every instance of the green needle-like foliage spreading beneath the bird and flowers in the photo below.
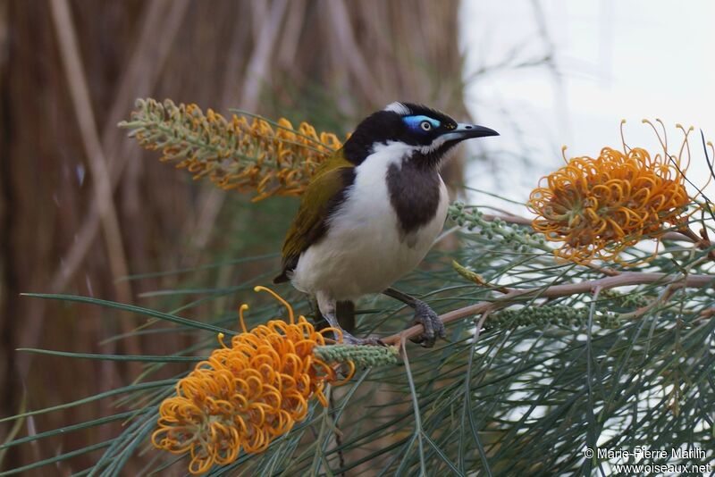
{"type": "MultiPolygon", "coordinates": [[[[610,473],[612,467],[598,456],[585,458],[586,447],[711,448],[715,293],[711,284],[684,288],[676,282],[686,275],[711,274],[709,250],[666,242],[651,264],[629,271],[662,272],[667,280],[545,297],[550,287],[601,279],[602,271],[555,261],[551,249],[526,226],[487,221],[465,205],[453,206],[451,212],[464,226],[452,232],[458,234],[461,247],[437,248],[425,266],[398,286],[422,296],[439,313],[477,302],[498,305],[492,313],[450,322],[448,339],[432,349],[408,342],[408,359],[398,364],[360,362],[352,381],[329,389],[329,408],[314,403],[307,420],[264,453],[242,454],[233,464],[215,467],[210,475],[339,475],[368,470],[376,475],[592,474],[610,473]],[[454,261],[467,272],[455,272],[454,261]],[[469,273],[489,286],[475,284],[469,273]],[[503,303],[504,293],[515,289],[537,292],[503,303]],[[483,318],[484,328],[476,331],[475,321],[483,318]],[[374,365],[361,368],[368,364],[374,365]]],[[[626,254],[637,260],[650,252],[631,247],[626,254]]],[[[244,264],[234,261],[203,268],[234,269],[244,264]]],[[[181,272],[191,275],[190,270],[181,272]]],[[[97,464],[78,475],[122,475],[130,461],[144,465],[143,474],[185,472],[181,456],[148,443],[158,406],[189,371],[190,363],[176,362],[206,356],[217,346],[214,333],[235,332],[231,310],[240,302],[258,300],[244,291],[250,283],[247,279],[230,289],[167,290],[164,299],[192,297],[175,313],[88,297],[36,295],[121,309],[146,318],[136,333],[189,333],[193,340],[172,356],[32,350],[64,359],[67,365],[71,359],[130,359],[146,367],[137,381],[120,389],[6,418],[59,413],[98,399],[110,400],[116,408],[114,414],[85,423],[16,437],[2,449],[59,439],[111,422],[124,425],[112,439],[89,448],[63,449],[4,474],[41,472],[44,465],[89,452],[98,453],[97,464]],[[222,313],[213,318],[192,315],[198,303],[225,300],[225,296],[231,300],[222,313]],[[185,371],[172,379],[156,379],[157,372],[172,362],[172,369],[184,366],[185,371]]],[[[280,291],[300,312],[308,313],[303,297],[289,287],[280,291]]],[[[385,298],[360,305],[357,336],[387,336],[401,331],[410,319],[404,305],[385,298]]],[[[248,325],[274,318],[277,310],[273,302],[252,306],[248,325]]],[[[341,350],[325,352],[340,354],[341,350]]],[[[388,348],[385,352],[390,353],[388,348]]],[[[684,462],[705,464],[697,459],[684,462]]],[[[668,463],[677,462],[669,459],[668,463]]]]}

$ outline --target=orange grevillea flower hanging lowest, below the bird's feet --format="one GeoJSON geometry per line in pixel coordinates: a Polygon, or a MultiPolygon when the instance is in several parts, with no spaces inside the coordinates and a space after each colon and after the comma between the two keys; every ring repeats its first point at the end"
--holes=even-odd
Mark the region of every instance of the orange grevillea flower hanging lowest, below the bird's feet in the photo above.
{"type": "Polygon", "coordinates": [[[289,322],[272,320],[231,339],[231,346],[215,349],[206,361],[176,385],[176,395],[159,407],[158,429],[152,435],[156,448],[173,454],[189,453],[190,473],[204,473],[213,464],[229,464],[243,449],[265,450],[271,441],[306,418],[308,402],[323,406],[326,383],[338,381],[336,370],[317,358],[315,347],[325,344],[332,328],[315,331],[304,316],[295,319],[290,305],[273,291],[289,312],[289,322]]]}

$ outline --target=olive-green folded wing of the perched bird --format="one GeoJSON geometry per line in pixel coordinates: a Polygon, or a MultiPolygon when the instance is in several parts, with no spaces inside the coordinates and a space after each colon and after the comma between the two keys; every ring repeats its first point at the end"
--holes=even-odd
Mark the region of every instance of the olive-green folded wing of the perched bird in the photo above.
{"type": "Polygon", "coordinates": [[[300,254],[327,231],[327,220],[344,200],[344,193],[355,179],[355,166],[337,151],[315,173],[300,201],[300,208],[290,225],[282,248],[282,273],[273,283],[289,280],[287,273],[295,269],[300,254]]]}

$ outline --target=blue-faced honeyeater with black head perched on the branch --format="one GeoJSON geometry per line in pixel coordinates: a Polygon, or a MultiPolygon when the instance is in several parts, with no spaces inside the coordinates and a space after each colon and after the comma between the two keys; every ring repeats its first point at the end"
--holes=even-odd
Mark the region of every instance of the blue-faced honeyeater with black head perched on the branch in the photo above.
{"type": "Polygon", "coordinates": [[[449,198],[440,176],[448,153],[495,130],[454,121],[425,105],[394,102],[367,116],[343,146],[322,163],[301,198],[282,247],[282,272],[313,297],[336,340],[380,344],[342,329],[341,309],[383,294],[414,309],[424,331],[416,341],[433,347],[444,324],[424,301],[392,287],[425,258],[442,231],[449,198]],[[339,335],[340,332],[340,335],[339,335]]]}

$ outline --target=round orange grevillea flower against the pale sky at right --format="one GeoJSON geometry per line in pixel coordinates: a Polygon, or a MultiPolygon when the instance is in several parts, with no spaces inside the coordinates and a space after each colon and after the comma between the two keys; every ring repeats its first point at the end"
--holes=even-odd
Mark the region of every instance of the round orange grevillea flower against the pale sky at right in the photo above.
{"type": "Polygon", "coordinates": [[[572,158],[544,177],[529,199],[537,215],[534,230],[563,242],[555,251],[562,258],[620,262],[624,248],[684,224],[692,199],[685,187],[687,164],[680,160],[684,150],[689,154],[689,131],[680,129],[685,140],[677,156],[662,141],[663,155],[653,157],[639,147],[624,153],[604,147],[598,157],[572,158]]]}

